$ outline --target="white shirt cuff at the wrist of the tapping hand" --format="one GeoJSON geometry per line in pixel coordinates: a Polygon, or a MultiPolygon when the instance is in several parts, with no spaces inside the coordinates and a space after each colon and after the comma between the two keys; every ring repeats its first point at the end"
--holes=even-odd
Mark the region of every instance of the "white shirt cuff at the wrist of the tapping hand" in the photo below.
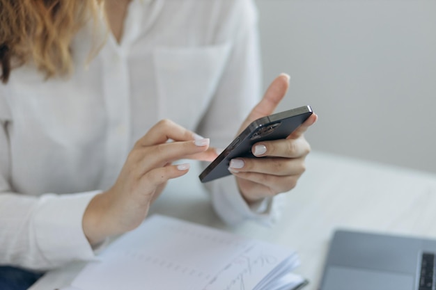
{"type": "MultiPolygon", "coordinates": [[[[82,219],[91,199],[100,191],[42,195],[33,212],[31,234],[49,268],[74,260],[95,258],[82,219]]],[[[100,247],[98,247],[100,248],[100,247]]]]}

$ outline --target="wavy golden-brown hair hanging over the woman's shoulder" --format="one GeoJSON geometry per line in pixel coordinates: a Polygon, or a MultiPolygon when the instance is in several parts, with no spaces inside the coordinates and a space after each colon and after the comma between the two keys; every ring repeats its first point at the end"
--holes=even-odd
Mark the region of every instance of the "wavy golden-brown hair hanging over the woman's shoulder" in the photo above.
{"type": "Polygon", "coordinates": [[[70,43],[102,0],[0,0],[0,79],[28,61],[47,78],[72,70],[70,43]]]}

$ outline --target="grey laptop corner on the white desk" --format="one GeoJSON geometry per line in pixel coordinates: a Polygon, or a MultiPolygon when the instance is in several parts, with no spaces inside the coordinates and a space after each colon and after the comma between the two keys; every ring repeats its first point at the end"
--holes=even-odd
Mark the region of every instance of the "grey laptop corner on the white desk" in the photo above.
{"type": "Polygon", "coordinates": [[[320,290],[436,290],[436,241],[338,229],[320,290]]]}

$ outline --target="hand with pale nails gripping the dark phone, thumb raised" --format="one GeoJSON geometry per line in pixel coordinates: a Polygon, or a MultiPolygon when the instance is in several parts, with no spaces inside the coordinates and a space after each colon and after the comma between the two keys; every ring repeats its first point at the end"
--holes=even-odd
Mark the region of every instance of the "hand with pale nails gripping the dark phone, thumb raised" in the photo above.
{"type": "MultiPolygon", "coordinates": [[[[274,112],[289,86],[289,76],[281,74],[271,83],[263,99],[254,107],[240,131],[251,122],[274,112]]],[[[286,139],[262,141],[252,147],[257,157],[233,159],[228,168],[235,175],[240,193],[248,202],[257,202],[290,191],[305,170],[304,160],[311,147],[304,132],[316,122],[313,113],[286,139]]],[[[240,132],[239,132],[240,133],[240,132]]]]}

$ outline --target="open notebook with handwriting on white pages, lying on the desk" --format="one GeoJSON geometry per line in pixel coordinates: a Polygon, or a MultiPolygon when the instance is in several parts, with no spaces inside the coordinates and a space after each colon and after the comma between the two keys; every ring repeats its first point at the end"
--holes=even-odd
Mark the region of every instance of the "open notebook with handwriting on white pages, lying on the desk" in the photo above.
{"type": "Polygon", "coordinates": [[[68,289],[294,290],[297,253],[168,216],[150,216],[89,262],[68,289]]]}

